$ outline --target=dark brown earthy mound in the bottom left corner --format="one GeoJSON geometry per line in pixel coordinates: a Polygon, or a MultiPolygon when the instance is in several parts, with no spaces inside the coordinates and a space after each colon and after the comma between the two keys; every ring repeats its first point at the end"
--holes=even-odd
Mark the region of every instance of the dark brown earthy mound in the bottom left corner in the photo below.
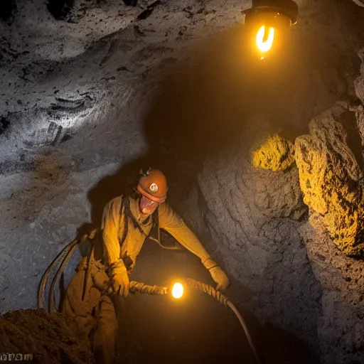
{"type": "Polygon", "coordinates": [[[9,363],[25,359],[27,354],[32,359],[25,363],[95,363],[90,347],[75,323],[60,314],[21,310],[0,316],[0,355],[7,355],[9,363]]]}

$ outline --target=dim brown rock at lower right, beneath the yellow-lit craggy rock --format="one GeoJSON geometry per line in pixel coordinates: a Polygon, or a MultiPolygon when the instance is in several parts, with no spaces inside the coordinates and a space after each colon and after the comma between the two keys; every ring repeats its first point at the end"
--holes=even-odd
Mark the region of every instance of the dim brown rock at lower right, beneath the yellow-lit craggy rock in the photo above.
{"type": "Polygon", "coordinates": [[[322,287],[317,322],[323,364],[361,364],[364,358],[364,261],[347,257],[309,223],[301,227],[322,287]]]}

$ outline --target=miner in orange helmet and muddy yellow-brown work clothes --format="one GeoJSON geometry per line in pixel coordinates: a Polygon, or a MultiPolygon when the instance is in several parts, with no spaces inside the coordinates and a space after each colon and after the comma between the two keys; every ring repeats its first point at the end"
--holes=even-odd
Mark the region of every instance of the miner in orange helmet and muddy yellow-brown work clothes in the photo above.
{"type": "Polygon", "coordinates": [[[116,295],[128,296],[129,274],[155,225],[200,258],[218,290],[229,285],[223,269],[166,203],[167,190],[164,173],[149,168],[141,174],[133,196],[119,196],[107,203],[102,215],[100,242],[95,242],[92,259],[85,257],[77,266],[65,293],[62,311],[73,316],[90,336],[98,363],[112,363],[117,333],[113,299],[116,295]],[[102,288],[105,282],[109,282],[112,294],[102,288]]]}

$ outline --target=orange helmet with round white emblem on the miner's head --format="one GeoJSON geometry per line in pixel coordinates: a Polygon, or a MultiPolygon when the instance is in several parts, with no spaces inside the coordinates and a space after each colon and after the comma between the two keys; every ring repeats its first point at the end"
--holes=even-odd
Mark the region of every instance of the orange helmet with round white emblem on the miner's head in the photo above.
{"type": "Polygon", "coordinates": [[[137,190],[149,200],[162,203],[167,198],[167,180],[164,173],[158,169],[149,168],[148,171],[141,171],[141,178],[137,190]]]}

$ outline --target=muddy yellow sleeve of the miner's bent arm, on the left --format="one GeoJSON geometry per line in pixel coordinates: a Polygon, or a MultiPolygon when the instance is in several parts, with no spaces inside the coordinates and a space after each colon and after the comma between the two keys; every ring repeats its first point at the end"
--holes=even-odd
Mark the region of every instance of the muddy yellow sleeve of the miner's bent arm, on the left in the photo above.
{"type": "Polygon", "coordinates": [[[120,257],[118,234],[121,204],[121,196],[114,198],[105,205],[104,212],[102,213],[102,244],[107,264],[116,262],[120,257]]]}

